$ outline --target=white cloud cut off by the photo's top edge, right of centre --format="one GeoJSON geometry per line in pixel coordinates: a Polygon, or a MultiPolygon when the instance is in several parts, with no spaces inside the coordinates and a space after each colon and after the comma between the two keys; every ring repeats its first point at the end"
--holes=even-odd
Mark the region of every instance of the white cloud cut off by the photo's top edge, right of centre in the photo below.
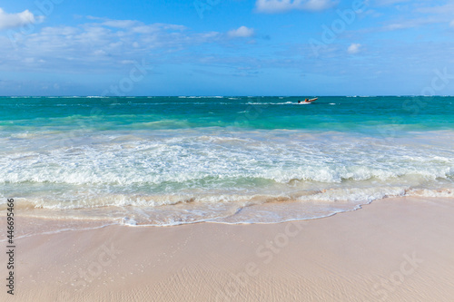
{"type": "Polygon", "coordinates": [[[322,11],[336,5],[336,0],[257,0],[260,13],[282,13],[290,10],[322,11]]]}

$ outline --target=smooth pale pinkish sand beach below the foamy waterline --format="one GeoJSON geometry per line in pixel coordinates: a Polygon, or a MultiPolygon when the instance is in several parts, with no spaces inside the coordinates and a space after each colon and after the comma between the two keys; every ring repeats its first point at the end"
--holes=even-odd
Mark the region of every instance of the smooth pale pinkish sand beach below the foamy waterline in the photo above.
{"type": "Polygon", "coordinates": [[[6,294],[5,286],[1,296],[4,301],[452,301],[453,217],[452,200],[399,198],[280,224],[110,226],[38,235],[16,240],[15,296],[6,294]]]}

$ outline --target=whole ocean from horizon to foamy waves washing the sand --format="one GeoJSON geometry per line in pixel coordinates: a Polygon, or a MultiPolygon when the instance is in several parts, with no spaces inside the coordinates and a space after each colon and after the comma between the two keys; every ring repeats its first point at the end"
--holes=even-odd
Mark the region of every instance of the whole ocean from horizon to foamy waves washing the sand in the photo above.
{"type": "Polygon", "coordinates": [[[13,198],[18,215],[58,230],[454,198],[454,97],[302,99],[1,97],[0,210],[13,198]]]}

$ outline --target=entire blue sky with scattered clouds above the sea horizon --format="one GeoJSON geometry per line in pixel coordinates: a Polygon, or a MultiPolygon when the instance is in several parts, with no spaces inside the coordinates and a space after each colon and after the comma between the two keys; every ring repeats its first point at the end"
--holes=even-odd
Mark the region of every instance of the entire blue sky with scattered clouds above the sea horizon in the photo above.
{"type": "Polygon", "coordinates": [[[0,3],[0,95],[454,94],[454,0],[0,3]]]}

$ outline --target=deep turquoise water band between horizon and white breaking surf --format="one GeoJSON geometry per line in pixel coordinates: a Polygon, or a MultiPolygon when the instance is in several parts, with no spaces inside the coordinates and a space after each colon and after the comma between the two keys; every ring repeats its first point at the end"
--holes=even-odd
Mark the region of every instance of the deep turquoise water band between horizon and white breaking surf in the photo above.
{"type": "Polygon", "coordinates": [[[199,127],[301,129],[380,133],[452,129],[452,97],[324,97],[298,104],[298,97],[1,98],[2,129],[156,130],[199,127]],[[334,106],[334,107],[331,107],[334,106]],[[11,123],[14,121],[14,125],[11,123]]]}

